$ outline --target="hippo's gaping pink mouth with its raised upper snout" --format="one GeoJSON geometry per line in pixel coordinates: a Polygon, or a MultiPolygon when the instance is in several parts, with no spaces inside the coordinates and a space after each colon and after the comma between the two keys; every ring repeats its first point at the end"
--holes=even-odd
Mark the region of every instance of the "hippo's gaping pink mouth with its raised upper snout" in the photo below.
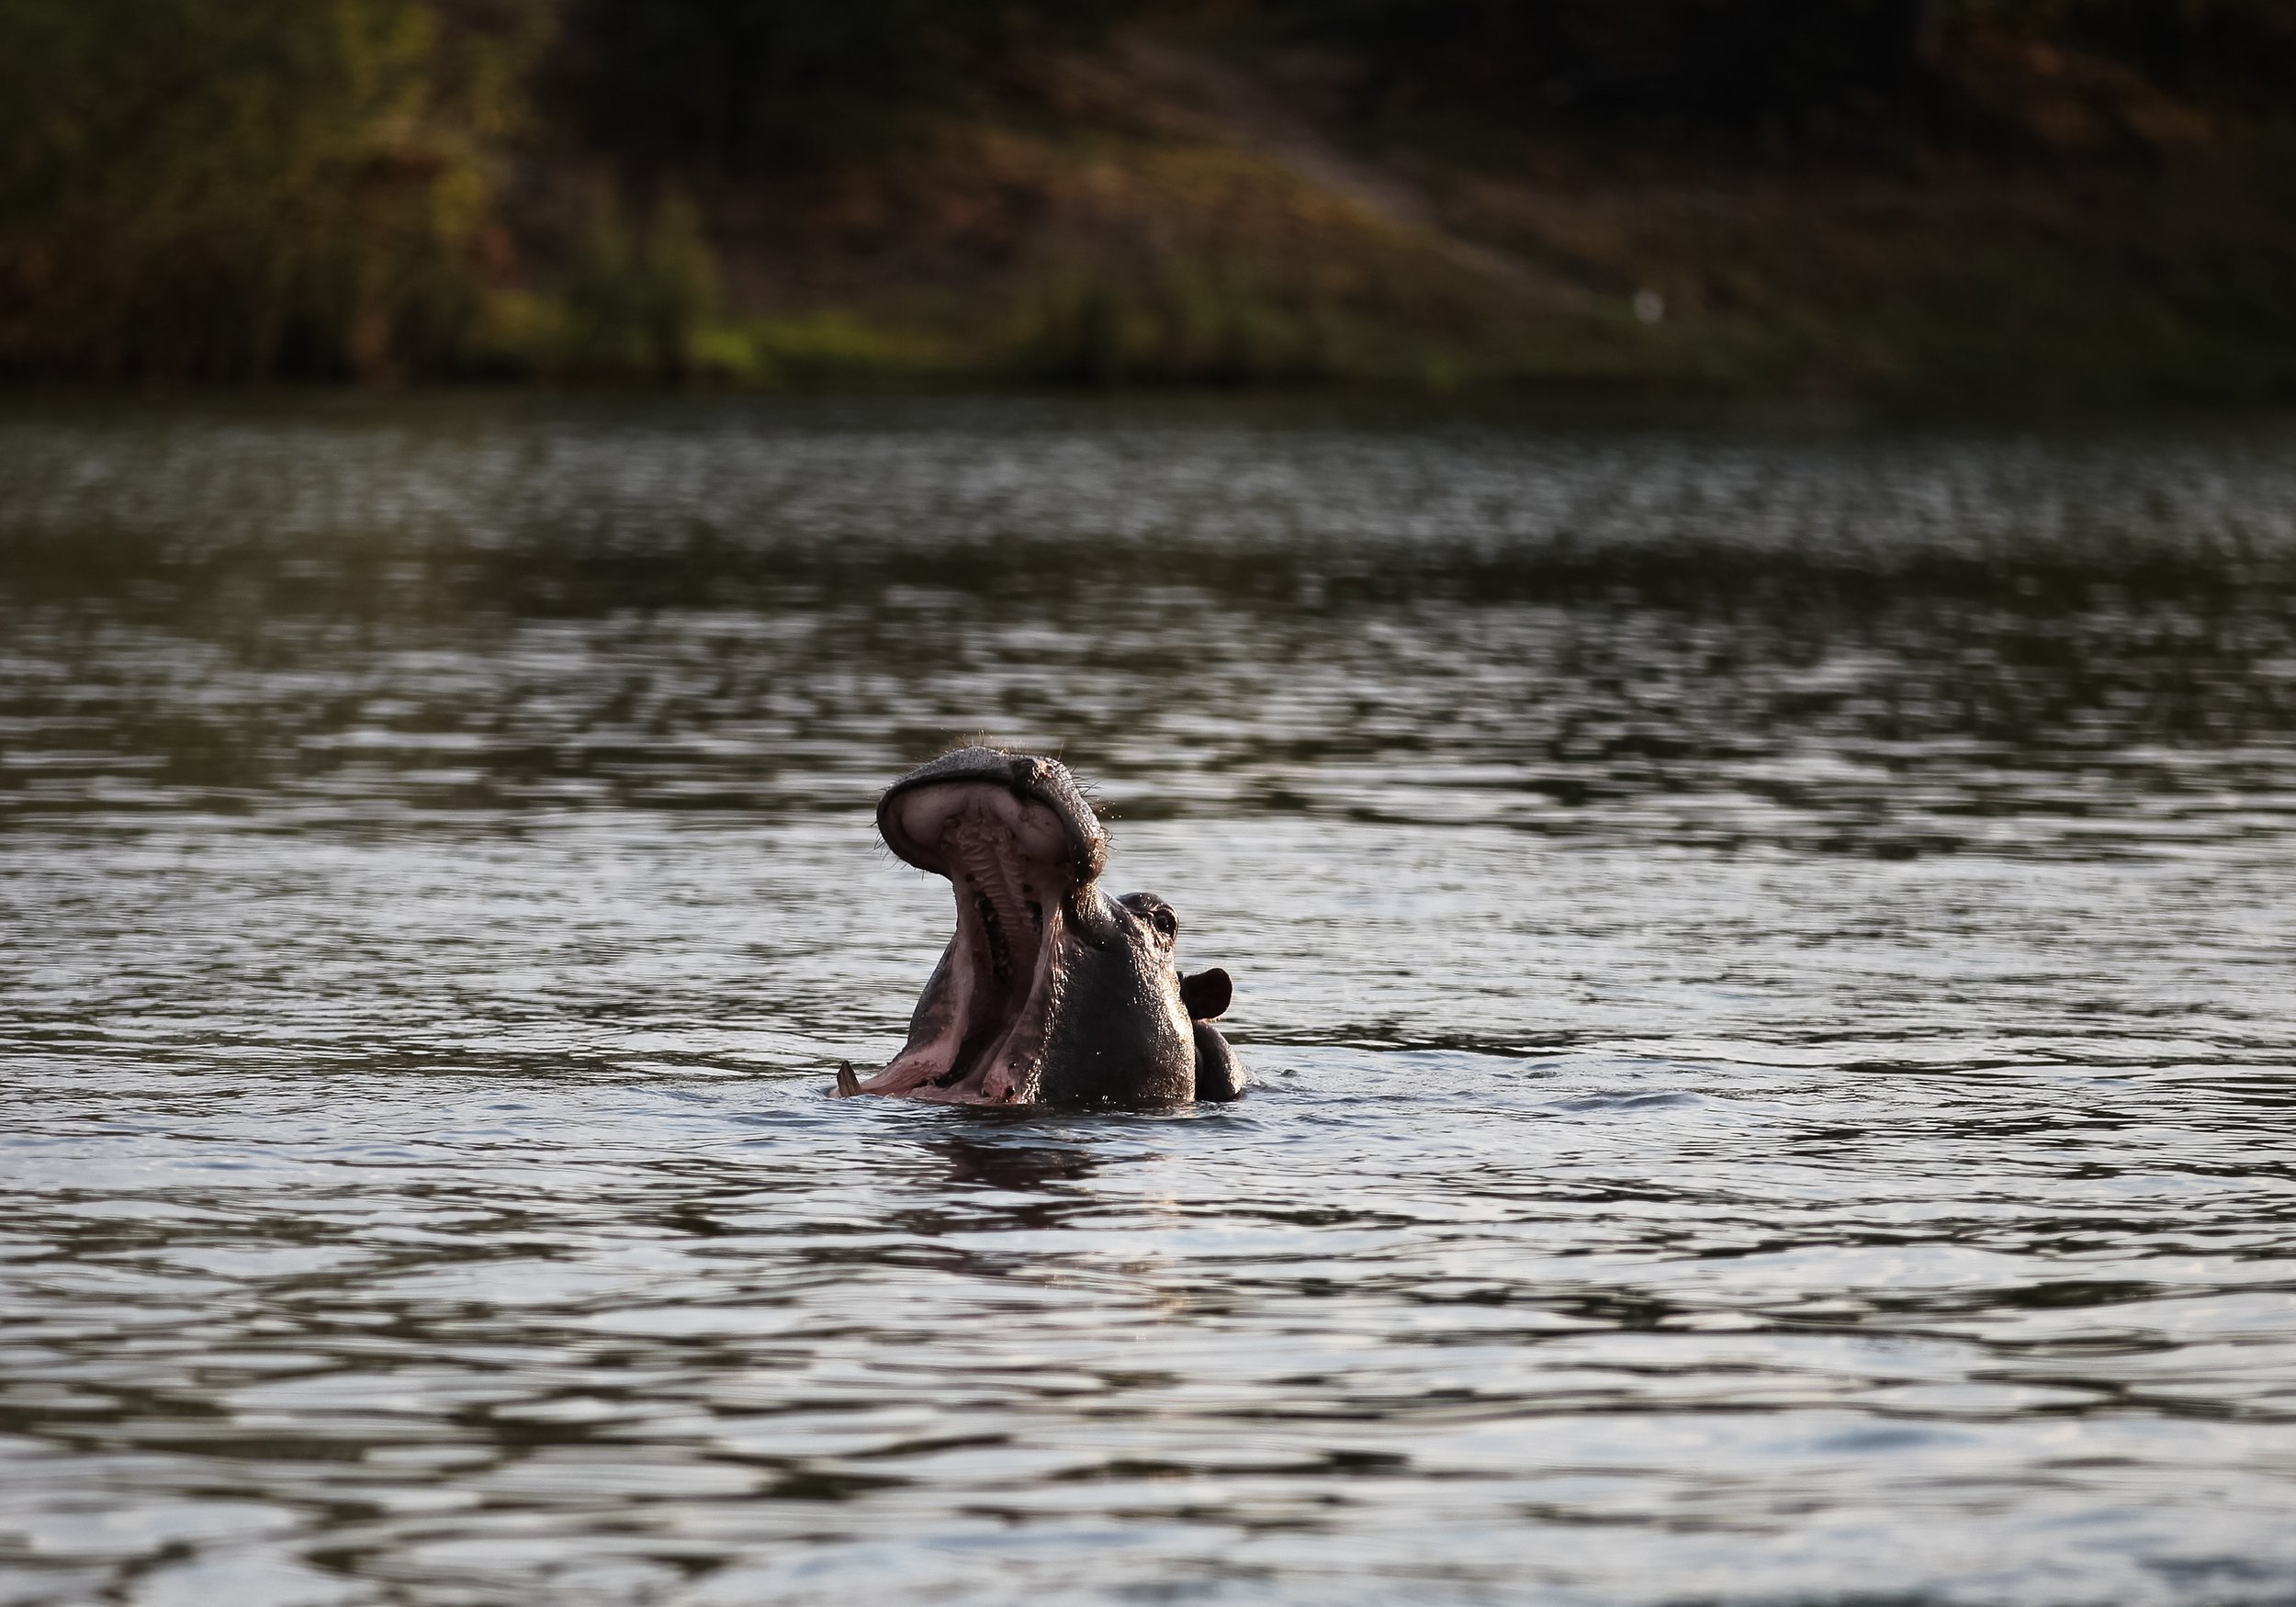
{"type": "Polygon", "coordinates": [[[909,1047],[856,1093],[1031,1104],[1061,999],[1075,833],[1045,804],[969,778],[889,801],[884,833],[902,859],[948,877],[957,934],[909,1047]]]}

